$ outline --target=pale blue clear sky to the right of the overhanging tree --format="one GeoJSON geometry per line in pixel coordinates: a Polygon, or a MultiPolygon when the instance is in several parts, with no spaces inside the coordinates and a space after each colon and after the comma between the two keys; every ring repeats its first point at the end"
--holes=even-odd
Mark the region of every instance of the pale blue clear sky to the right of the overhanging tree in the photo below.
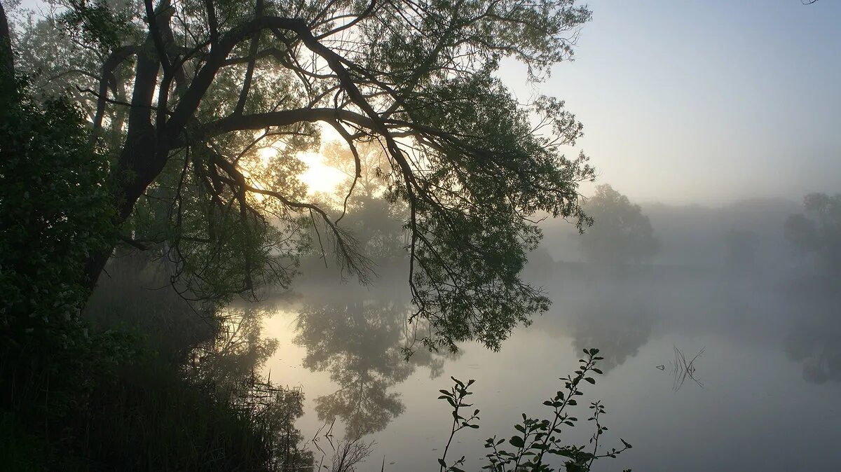
{"type": "MultiPolygon", "coordinates": [[[[841,2],[588,4],[575,60],[539,92],[584,123],[600,183],[701,205],[841,191],[841,2]]],[[[532,94],[516,65],[500,76],[532,94]]]]}

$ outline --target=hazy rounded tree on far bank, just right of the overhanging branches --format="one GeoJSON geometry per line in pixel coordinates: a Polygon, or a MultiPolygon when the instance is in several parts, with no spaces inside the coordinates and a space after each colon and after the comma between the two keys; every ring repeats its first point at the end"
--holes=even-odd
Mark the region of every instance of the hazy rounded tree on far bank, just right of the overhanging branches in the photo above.
{"type": "Polygon", "coordinates": [[[653,236],[648,217],[639,205],[613,187],[603,184],[596,187],[595,196],[584,206],[593,218],[593,228],[581,235],[581,247],[590,260],[600,263],[624,264],[628,260],[638,263],[651,257],[659,249],[653,236]]]}

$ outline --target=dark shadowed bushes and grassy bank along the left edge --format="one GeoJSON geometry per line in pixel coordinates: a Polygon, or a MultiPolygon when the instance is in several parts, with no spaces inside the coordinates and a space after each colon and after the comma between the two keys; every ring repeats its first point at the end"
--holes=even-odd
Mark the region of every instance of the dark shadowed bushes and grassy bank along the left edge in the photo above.
{"type": "Polygon", "coordinates": [[[249,396],[188,381],[138,335],[88,329],[79,316],[87,299],[84,264],[110,247],[114,233],[107,160],[75,105],[41,101],[24,80],[3,87],[0,429],[3,450],[14,449],[8,461],[3,454],[3,466],[266,469],[286,466],[288,458],[309,464],[307,454],[290,449],[299,440],[291,422],[300,415],[299,397],[275,390],[250,407],[249,396]]]}

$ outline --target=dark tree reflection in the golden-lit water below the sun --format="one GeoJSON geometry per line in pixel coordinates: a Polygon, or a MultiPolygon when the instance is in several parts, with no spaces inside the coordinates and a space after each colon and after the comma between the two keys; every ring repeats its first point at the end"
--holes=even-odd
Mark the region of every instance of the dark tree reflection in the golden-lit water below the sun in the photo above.
{"type": "Polygon", "coordinates": [[[295,344],[306,348],[304,367],[330,372],[339,390],[315,399],[315,412],[325,422],[340,418],[346,438],[382,431],[404,412],[397,392],[389,391],[417,367],[430,377],[443,372],[444,361],[456,354],[420,350],[405,360],[401,349],[414,336],[406,319],[410,304],[368,293],[341,301],[307,302],[299,312],[295,344]]]}

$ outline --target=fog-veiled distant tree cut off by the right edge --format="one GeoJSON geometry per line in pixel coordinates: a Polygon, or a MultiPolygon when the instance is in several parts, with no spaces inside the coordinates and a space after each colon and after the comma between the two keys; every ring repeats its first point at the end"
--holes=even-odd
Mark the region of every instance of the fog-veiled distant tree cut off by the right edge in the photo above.
{"type": "Polygon", "coordinates": [[[804,212],[785,220],[785,239],[803,253],[816,254],[830,270],[841,270],[841,194],[810,193],[804,212]]]}

